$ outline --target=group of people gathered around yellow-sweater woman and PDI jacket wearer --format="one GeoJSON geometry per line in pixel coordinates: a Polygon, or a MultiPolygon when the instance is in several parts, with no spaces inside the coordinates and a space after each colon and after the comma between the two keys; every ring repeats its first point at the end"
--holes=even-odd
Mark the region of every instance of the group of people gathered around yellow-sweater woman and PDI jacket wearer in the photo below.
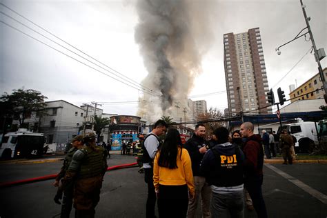
{"type": "Polygon", "coordinates": [[[244,208],[267,217],[261,189],[264,155],[276,157],[280,149],[284,164],[292,164],[294,142],[287,131],[280,139],[275,132],[262,134],[246,122],[231,135],[219,127],[206,141],[206,127],[198,124],[183,146],[175,128],[157,121],[143,143],[146,217],[155,217],[156,201],[159,217],[196,217],[199,201],[202,217],[244,217],[244,208]]]}

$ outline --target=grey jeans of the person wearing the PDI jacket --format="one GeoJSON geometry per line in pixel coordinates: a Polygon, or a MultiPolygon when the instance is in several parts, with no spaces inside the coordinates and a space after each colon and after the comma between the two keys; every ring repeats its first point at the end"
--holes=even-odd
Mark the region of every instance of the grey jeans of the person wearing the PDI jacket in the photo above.
{"type": "Polygon", "coordinates": [[[212,218],[244,218],[244,192],[218,194],[212,192],[212,218]]]}

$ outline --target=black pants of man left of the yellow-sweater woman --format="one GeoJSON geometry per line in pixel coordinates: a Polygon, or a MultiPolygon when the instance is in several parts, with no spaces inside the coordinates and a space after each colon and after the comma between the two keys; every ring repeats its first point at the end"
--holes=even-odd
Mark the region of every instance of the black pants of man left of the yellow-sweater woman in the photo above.
{"type": "Polygon", "coordinates": [[[148,184],[148,199],[146,199],[146,218],[155,217],[155,186],[153,186],[153,168],[144,168],[144,180],[148,184]]]}

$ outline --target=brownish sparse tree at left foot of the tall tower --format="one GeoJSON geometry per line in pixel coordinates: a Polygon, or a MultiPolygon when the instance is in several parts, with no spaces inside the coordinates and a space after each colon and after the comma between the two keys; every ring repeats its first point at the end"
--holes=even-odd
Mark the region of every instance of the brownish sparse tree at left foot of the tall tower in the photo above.
{"type": "Polygon", "coordinates": [[[204,126],[206,126],[206,132],[208,135],[212,135],[213,130],[218,128],[219,126],[225,126],[225,123],[222,121],[218,121],[221,119],[222,114],[217,108],[210,108],[204,114],[197,116],[197,121],[201,123],[204,122],[204,126]]]}

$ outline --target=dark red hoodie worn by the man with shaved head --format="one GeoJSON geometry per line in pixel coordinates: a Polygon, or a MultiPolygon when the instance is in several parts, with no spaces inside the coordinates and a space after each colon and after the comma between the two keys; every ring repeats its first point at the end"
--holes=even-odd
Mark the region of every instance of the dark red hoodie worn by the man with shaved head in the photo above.
{"type": "Polygon", "coordinates": [[[261,177],[263,175],[262,168],[264,166],[264,149],[262,148],[260,135],[248,137],[243,152],[246,157],[244,163],[245,177],[261,177]]]}

